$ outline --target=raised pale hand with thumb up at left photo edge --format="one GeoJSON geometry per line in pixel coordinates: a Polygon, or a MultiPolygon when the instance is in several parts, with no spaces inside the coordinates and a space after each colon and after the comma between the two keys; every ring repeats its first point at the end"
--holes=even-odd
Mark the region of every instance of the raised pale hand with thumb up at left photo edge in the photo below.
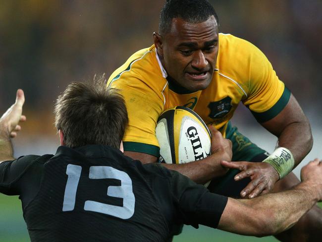
{"type": "Polygon", "coordinates": [[[25,95],[21,89],[17,90],[16,102],[0,118],[0,128],[10,135],[11,138],[17,136],[21,130],[20,121],[26,121],[26,116],[22,115],[22,106],[25,102],[25,95]]]}

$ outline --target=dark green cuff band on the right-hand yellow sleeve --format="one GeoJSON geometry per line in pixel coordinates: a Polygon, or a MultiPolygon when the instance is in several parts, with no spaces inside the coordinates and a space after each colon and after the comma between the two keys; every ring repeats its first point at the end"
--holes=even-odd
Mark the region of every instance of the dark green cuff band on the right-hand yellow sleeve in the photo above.
{"type": "Polygon", "coordinates": [[[268,109],[268,111],[265,111],[263,113],[256,113],[253,111],[251,112],[258,122],[266,122],[274,118],[285,108],[288,101],[290,100],[290,97],[291,97],[291,91],[285,86],[282,96],[279,98],[279,100],[277,101],[277,103],[275,103],[273,107],[268,109]]]}

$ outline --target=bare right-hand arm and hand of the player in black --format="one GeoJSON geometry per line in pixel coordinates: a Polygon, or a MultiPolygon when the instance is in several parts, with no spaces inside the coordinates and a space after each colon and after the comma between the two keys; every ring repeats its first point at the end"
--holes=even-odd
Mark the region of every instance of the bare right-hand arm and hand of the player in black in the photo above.
{"type": "Polygon", "coordinates": [[[228,198],[218,229],[253,236],[280,233],[294,225],[322,199],[322,162],[310,162],[294,188],[251,200],[228,198]]]}

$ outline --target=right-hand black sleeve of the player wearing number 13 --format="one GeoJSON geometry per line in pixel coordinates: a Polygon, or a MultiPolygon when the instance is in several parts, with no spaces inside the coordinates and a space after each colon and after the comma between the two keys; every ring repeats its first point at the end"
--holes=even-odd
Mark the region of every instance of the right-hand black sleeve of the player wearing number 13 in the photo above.
{"type": "Polygon", "coordinates": [[[170,171],[171,191],[184,224],[198,228],[198,224],[216,228],[228,198],[211,193],[205,186],[170,171]]]}

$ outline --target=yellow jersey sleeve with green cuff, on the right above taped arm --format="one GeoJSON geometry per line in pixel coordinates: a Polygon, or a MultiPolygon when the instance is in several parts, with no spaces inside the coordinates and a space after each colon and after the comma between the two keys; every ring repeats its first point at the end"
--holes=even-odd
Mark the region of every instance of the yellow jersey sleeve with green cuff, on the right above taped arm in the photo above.
{"type": "Polygon", "coordinates": [[[249,91],[243,103],[257,121],[265,122],[283,110],[289,101],[290,91],[258,48],[249,45],[249,52],[249,91]]]}

